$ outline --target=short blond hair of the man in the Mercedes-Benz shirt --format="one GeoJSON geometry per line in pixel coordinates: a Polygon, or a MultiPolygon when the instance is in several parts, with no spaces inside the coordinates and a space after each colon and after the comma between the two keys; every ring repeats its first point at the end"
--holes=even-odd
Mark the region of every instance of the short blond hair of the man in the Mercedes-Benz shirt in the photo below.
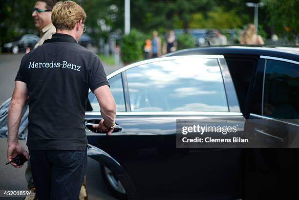
{"type": "Polygon", "coordinates": [[[56,30],[72,30],[80,20],[85,22],[84,9],[74,1],[60,1],[52,9],[52,23],[56,30]]]}

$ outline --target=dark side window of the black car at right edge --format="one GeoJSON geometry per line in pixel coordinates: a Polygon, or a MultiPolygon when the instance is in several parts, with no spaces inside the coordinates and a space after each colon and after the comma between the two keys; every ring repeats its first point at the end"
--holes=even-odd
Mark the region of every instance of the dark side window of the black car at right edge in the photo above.
{"type": "Polygon", "coordinates": [[[298,99],[299,66],[267,60],[263,113],[280,119],[298,119],[298,99]]]}

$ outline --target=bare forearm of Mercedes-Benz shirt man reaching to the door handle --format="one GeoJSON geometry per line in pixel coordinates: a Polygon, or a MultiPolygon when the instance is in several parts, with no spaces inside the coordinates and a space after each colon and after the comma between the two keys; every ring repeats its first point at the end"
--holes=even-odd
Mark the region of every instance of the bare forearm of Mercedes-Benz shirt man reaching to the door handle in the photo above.
{"type": "Polygon", "coordinates": [[[104,119],[104,125],[107,128],[114,126],[116,105],[114,98],[107,85],[101,86],[93,91],[98,99],[101,108],[101,114],[104,119]]]}

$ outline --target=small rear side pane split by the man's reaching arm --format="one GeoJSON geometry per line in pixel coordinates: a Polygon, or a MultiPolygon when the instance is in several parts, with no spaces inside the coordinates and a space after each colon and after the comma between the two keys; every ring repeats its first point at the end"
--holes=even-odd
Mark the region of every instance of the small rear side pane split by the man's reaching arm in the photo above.
{"type": "MultiPolygon", "coordinates": [[[[121,74],[113,76],[109,80],[110,91],[114,97],[117,111],[126,111],[124,89],[121,74]]],[[[92,111],[100,111],[99,102],[94,93],[89,92],[88,100],[90,102],[92,111]]]]}

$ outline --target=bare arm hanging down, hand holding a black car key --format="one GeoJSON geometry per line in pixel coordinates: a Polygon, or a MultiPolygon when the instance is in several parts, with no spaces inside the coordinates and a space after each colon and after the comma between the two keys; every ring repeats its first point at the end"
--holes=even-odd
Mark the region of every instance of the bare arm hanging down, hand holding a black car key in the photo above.
{"type": "MultiPolygon", "coordinates": [[[[15,89],[9,104],[8,117],[7,117],[7,127],[8,127],[8,149],[7,158],[11,161],[12,158],[16,157],[18,154],[23,154],[27,159],[29,159],[28,153],[19,144],[18,133],[22,117],[22,110],[27,100],[28,90],[26,83],[22,81],[15,81],[15,89]]],[[[20,168],[16,163],[11,163],[14,167],[20,168]]]]}

